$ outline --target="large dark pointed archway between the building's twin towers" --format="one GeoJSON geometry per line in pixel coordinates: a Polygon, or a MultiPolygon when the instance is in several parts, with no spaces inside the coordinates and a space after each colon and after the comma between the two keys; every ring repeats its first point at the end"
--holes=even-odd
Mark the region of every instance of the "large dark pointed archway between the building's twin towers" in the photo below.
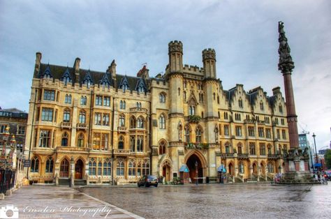
{"type": "Polygon", "coordinates": [[[196,183],[196,178],[198,178],[198,183],[205,183],[206,161],[203,155],[199,151],[193,151],[186,155],[185,163],[189,167],[189,177],[192,183],[196,183]],[[196,165],[198,166],[198,176],[196,165]]]}

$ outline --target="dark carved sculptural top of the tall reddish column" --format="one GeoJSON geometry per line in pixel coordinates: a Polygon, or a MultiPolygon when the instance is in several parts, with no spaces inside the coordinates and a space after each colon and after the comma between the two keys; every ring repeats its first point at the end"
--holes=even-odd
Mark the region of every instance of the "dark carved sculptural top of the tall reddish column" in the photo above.
{"type": "Polygon", "coordinates": [[[290,56],[290,46],[287,43],[287,38],[284,31],[284,22],[278,22],[278,32],[279,32],[279,63],[278,69],[281,73],[291,73],[294,68],[294,62],[292,61],[292,56],[290,56]]]}

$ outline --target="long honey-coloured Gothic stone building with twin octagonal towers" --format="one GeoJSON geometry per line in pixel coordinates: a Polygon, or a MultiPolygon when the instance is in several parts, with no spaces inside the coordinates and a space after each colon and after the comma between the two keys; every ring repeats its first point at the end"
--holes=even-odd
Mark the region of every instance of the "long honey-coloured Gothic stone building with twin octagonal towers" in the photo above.
{"type": "Polygon", "coordinates": [[[286,106],[242,84],[223,89],[216,53],[203,50],[203,68],[184,65],[183,45],[168,45],[164,75],[119,75],[41,63],[31,89],[27,142],[34,182],[130,183],[142,174],[172,181],[188,167],[191,181],[215,181],[222,164],[230,181],[265,181],[284,168],[286,106]],[[32,133],[32,135],[30,135],[32,133]],[[196,171],[198,168],[198,171],[196,171]],[[196,176],[198,173],[198,176],[196,176]]]}

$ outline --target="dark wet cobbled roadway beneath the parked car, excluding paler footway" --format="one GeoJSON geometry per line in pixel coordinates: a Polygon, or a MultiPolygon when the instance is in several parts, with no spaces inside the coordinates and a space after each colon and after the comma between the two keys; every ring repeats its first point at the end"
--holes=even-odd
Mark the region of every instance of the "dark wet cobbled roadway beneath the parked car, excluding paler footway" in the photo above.
{"type": "Polygon", "coordinates": [[[331,183],[77,189],[144,218],[331,218],[331,183]]]}

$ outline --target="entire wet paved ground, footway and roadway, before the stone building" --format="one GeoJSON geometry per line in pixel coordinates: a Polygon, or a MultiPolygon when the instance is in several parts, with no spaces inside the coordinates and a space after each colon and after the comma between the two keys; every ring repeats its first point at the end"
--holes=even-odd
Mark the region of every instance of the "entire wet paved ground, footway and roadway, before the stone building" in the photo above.
{"type": "Polygon", "coordinates": [[[17,207],[20,218],[330,218],[331,183],[27,186],[0,201],[7,204],[17,207]]]}

